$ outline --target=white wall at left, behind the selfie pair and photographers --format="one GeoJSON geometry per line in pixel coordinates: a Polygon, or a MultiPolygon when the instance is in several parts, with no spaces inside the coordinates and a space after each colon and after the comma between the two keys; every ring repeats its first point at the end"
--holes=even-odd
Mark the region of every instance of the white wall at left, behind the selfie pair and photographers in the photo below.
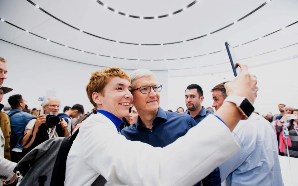
{"type": "MultiPolygon", "coordinates": [[[[85,86],[91,77],[91,72],[102,67],[40,54],[4,41],[0,41],[0,56],[7,60],[8,68],[7,79],[3,86],[14,89],[3,96],[2,104],[8,103],[9,96],[21,94],[29,108],[39,108],[41,101],[38,101],[38,97],[42,96],[59,98],[60,112],[64,106],[71,107],[74,104],[84,105],[86,112],[93,108],[88,100],[85,86]]],[[[129,74],[132,70],[125,72],[129,74]]],[[[156,75],[157,82],[163,85],[160,106],[166,107],[168,73],[152,72],[156,75]]]]}

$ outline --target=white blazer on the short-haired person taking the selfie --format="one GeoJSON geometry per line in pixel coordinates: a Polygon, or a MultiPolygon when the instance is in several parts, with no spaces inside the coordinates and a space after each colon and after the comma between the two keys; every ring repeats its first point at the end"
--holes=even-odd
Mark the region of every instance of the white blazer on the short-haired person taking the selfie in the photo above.
{"type": "Polygon", "coordinates": [[[102,175],[106,185],[194,185],[239,150],[230,130],[209,115],[164,148],[119,135],[101,113],[81,125],[66,162],[65,186],[90,186],[102,175]]]}

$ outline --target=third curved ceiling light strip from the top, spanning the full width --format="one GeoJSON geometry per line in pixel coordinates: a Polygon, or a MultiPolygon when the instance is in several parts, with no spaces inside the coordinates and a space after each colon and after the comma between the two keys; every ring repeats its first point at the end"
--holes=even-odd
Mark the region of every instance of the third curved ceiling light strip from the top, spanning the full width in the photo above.
{"type": "MultiPolygon", "coordinates": [[[[16,28],[18,28],[18,29],[21,29],[21,30],[25,31],[26,33],[30,33],[30,34],[33,34],[33,35],[39,37],[39,38],[43,38],[43,39],[45,39],[47,42],[50,41],[50,42],[56,43],[56,44],[58,44],[58,45],[64,46],[64,47],[66,47],[66,48],[71,48],[71,49],[74,49],[74,50],[77,50],[77,51],[81,51],[81,52],[86,52],[86,53],[89,53],[89,54],[100,55],[100,56],[103,56],[103,57],[110,57],[110,58],[122,59],[122,60],[138,60],[138,61],[181,60],[181,59],[188,59],[188,58],[200,57],[200,56],[203,56],[203,55],[215,54],[215,53],[223,52],[223,51],[226,50],[226,49],[223,49],[223,50],[219,50],[219,51],[215,51],[215,52],[210,52],[210,53],[206,53],[206,54],[201,54],[201,55],[193,55],[193,56],[189,56],[189,57],[172,58],[172,59],[155,59],[155,60],[150,59],[150,60],[148,60],[148,59],[130,59],[130,58],[122,58],[122,57],[115,57],[115,56],[108,56],[108,55],[96,54],[96,53],[93,53],[93,52],[88,52],[88,51],[80,50],[80,49],[77,49],[77,48],[74,48],[74,47],[69,47],[69,46],[67,46],[67,45],[63,45],[63,44],[61,44],[61,43],[52,41],[52,40],[50,40],[50,39],[48,39],[48,38],[44,38],[44,37],[42,37],[42,36],[39,36],[39,35],[37,35],[37,34],[35,34],[35,33],[29,32],[29,31],[26,30],[26,29],[22,29],[22,28],[20,28],[20,27],[18,27],[18,26],[16,26],[16,25],[14,25],[14,24],[12,24],[12,23],[10,23],[10,22],[8,22],[8,21],[2,19],[2,18],[0,18],[0,20],[3,21],[3,22],[5,22],[5,23],[7,23],[7,24],[10,24],[10,25],[12,25],[12,26],[14,26],[14,27],[16,27],[16,28]]],[[[298,21],[296,21],[296,22],[294,22],[294,23],[292,23],[292,24],[289,24],[289,25],[287,25],[287,26],[285,26],[285,27],[283,27],[283,28],[281,28],[281,29],[278,29],[278,30],[276,30],[276,31],[274,31],[274,32],[272,32],[272,33],[269,33],[269,34],[267,34],[267,35],[264,35],[264,36],[262,36],[262,37],[260,37],[260,38],[256,38],[256,39],[251,40],[251,41],[249,41],[249,42],[245,42],[245,43],[243,43],[243,44],[239,44],[239,45],[237,45],[237,46],[234,46],[233,48],[235,48],[235,47],[241,47],[242,45],[245,45],[245,44],[254,42],[254,41],[256,41],[256,40],[259,40],[259,39],[261,39],[261,38],[267,37],[267,36],[269,36],[269,35],[271,35],[271,34],[273,34],[273,33],[276,33],[276,32],[278,32],[278,31],[284,30],[284,29],[286,29],[287,27],[292,26],[292,25],[294,25],[294,24],[296,24],[296,23],[298,23],[298,21]]],[[[297,43],[295,43],[295,44],[297,44],[297,43]]],[[[285,48],[285,47],[283,47],[283,48],[285,48]]],[[[280,48],[280,49],[282,49],[282,48],[280,48]]],[[[277,49],[277,50],[279,50],[279,49],[277,49]]],[[[276,50],[273,50],[273,51],[276,51],[276,50]]],[[[269,52],[272,52],[272,51],[269,51],[269,52]]],[[[266,53],[269,53],[269,52],[266,52],[266,53]]],[[[266,53],[262,53],[262,54],[266,54],[266,53]]],[[[262,54],[258,54],[258,55],[262,55],[262,54]]],[[[258,55],[256,55],[256,56],[258,56],[258,55]]],[[[248,58],[250,58],[250,57],[248,57],[248,58]]],[[[247,58],[243,58],[243,59],[240,59],[240,60],[244,60],[244,59],[247,59],[247,58]]]]}

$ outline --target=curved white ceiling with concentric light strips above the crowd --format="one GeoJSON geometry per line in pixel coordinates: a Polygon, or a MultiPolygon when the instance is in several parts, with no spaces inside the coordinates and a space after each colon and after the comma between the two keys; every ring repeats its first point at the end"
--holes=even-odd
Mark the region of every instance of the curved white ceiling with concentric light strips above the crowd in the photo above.
{"type": "MultiPolygon", "coordinates": [[[[193,1],[100,2],[129,15],[146,17],[169,14],[193,1]]],[[[298,43],[296,0],[198,0],[184,9],[167,17],[140,19],[111,11],[96,0],[0,1],[0,18],[5,20],[0,21],[0,39],[86,64],[124,69],[192,69],[197,73],[202,71],[196,70],[198,67],[228,62],[226,51],[222,51],[225,41],[232,46],[242,45],[234,49],[237,59],[249,65],[297,55],[298,44],[286,47],[298,43]],[[286,48],[276,51],[282,47],[286,48]]],[[[209,68],[207,72],[216,70],[209,68]]]]}

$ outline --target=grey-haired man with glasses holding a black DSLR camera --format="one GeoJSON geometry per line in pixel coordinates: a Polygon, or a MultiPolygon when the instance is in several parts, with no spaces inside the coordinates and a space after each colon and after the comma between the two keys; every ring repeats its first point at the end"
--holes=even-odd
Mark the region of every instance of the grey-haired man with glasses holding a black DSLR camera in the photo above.
{"type": "Polygon", "coordinates": [[[47,97],[43,100],[41,113],[36,119],[30,120],[25,127],[22,139],[25,154],[48,139],[70,135],[67,122],[56,116],[59,108],[60,100],[56,97],[47,97]]]}

